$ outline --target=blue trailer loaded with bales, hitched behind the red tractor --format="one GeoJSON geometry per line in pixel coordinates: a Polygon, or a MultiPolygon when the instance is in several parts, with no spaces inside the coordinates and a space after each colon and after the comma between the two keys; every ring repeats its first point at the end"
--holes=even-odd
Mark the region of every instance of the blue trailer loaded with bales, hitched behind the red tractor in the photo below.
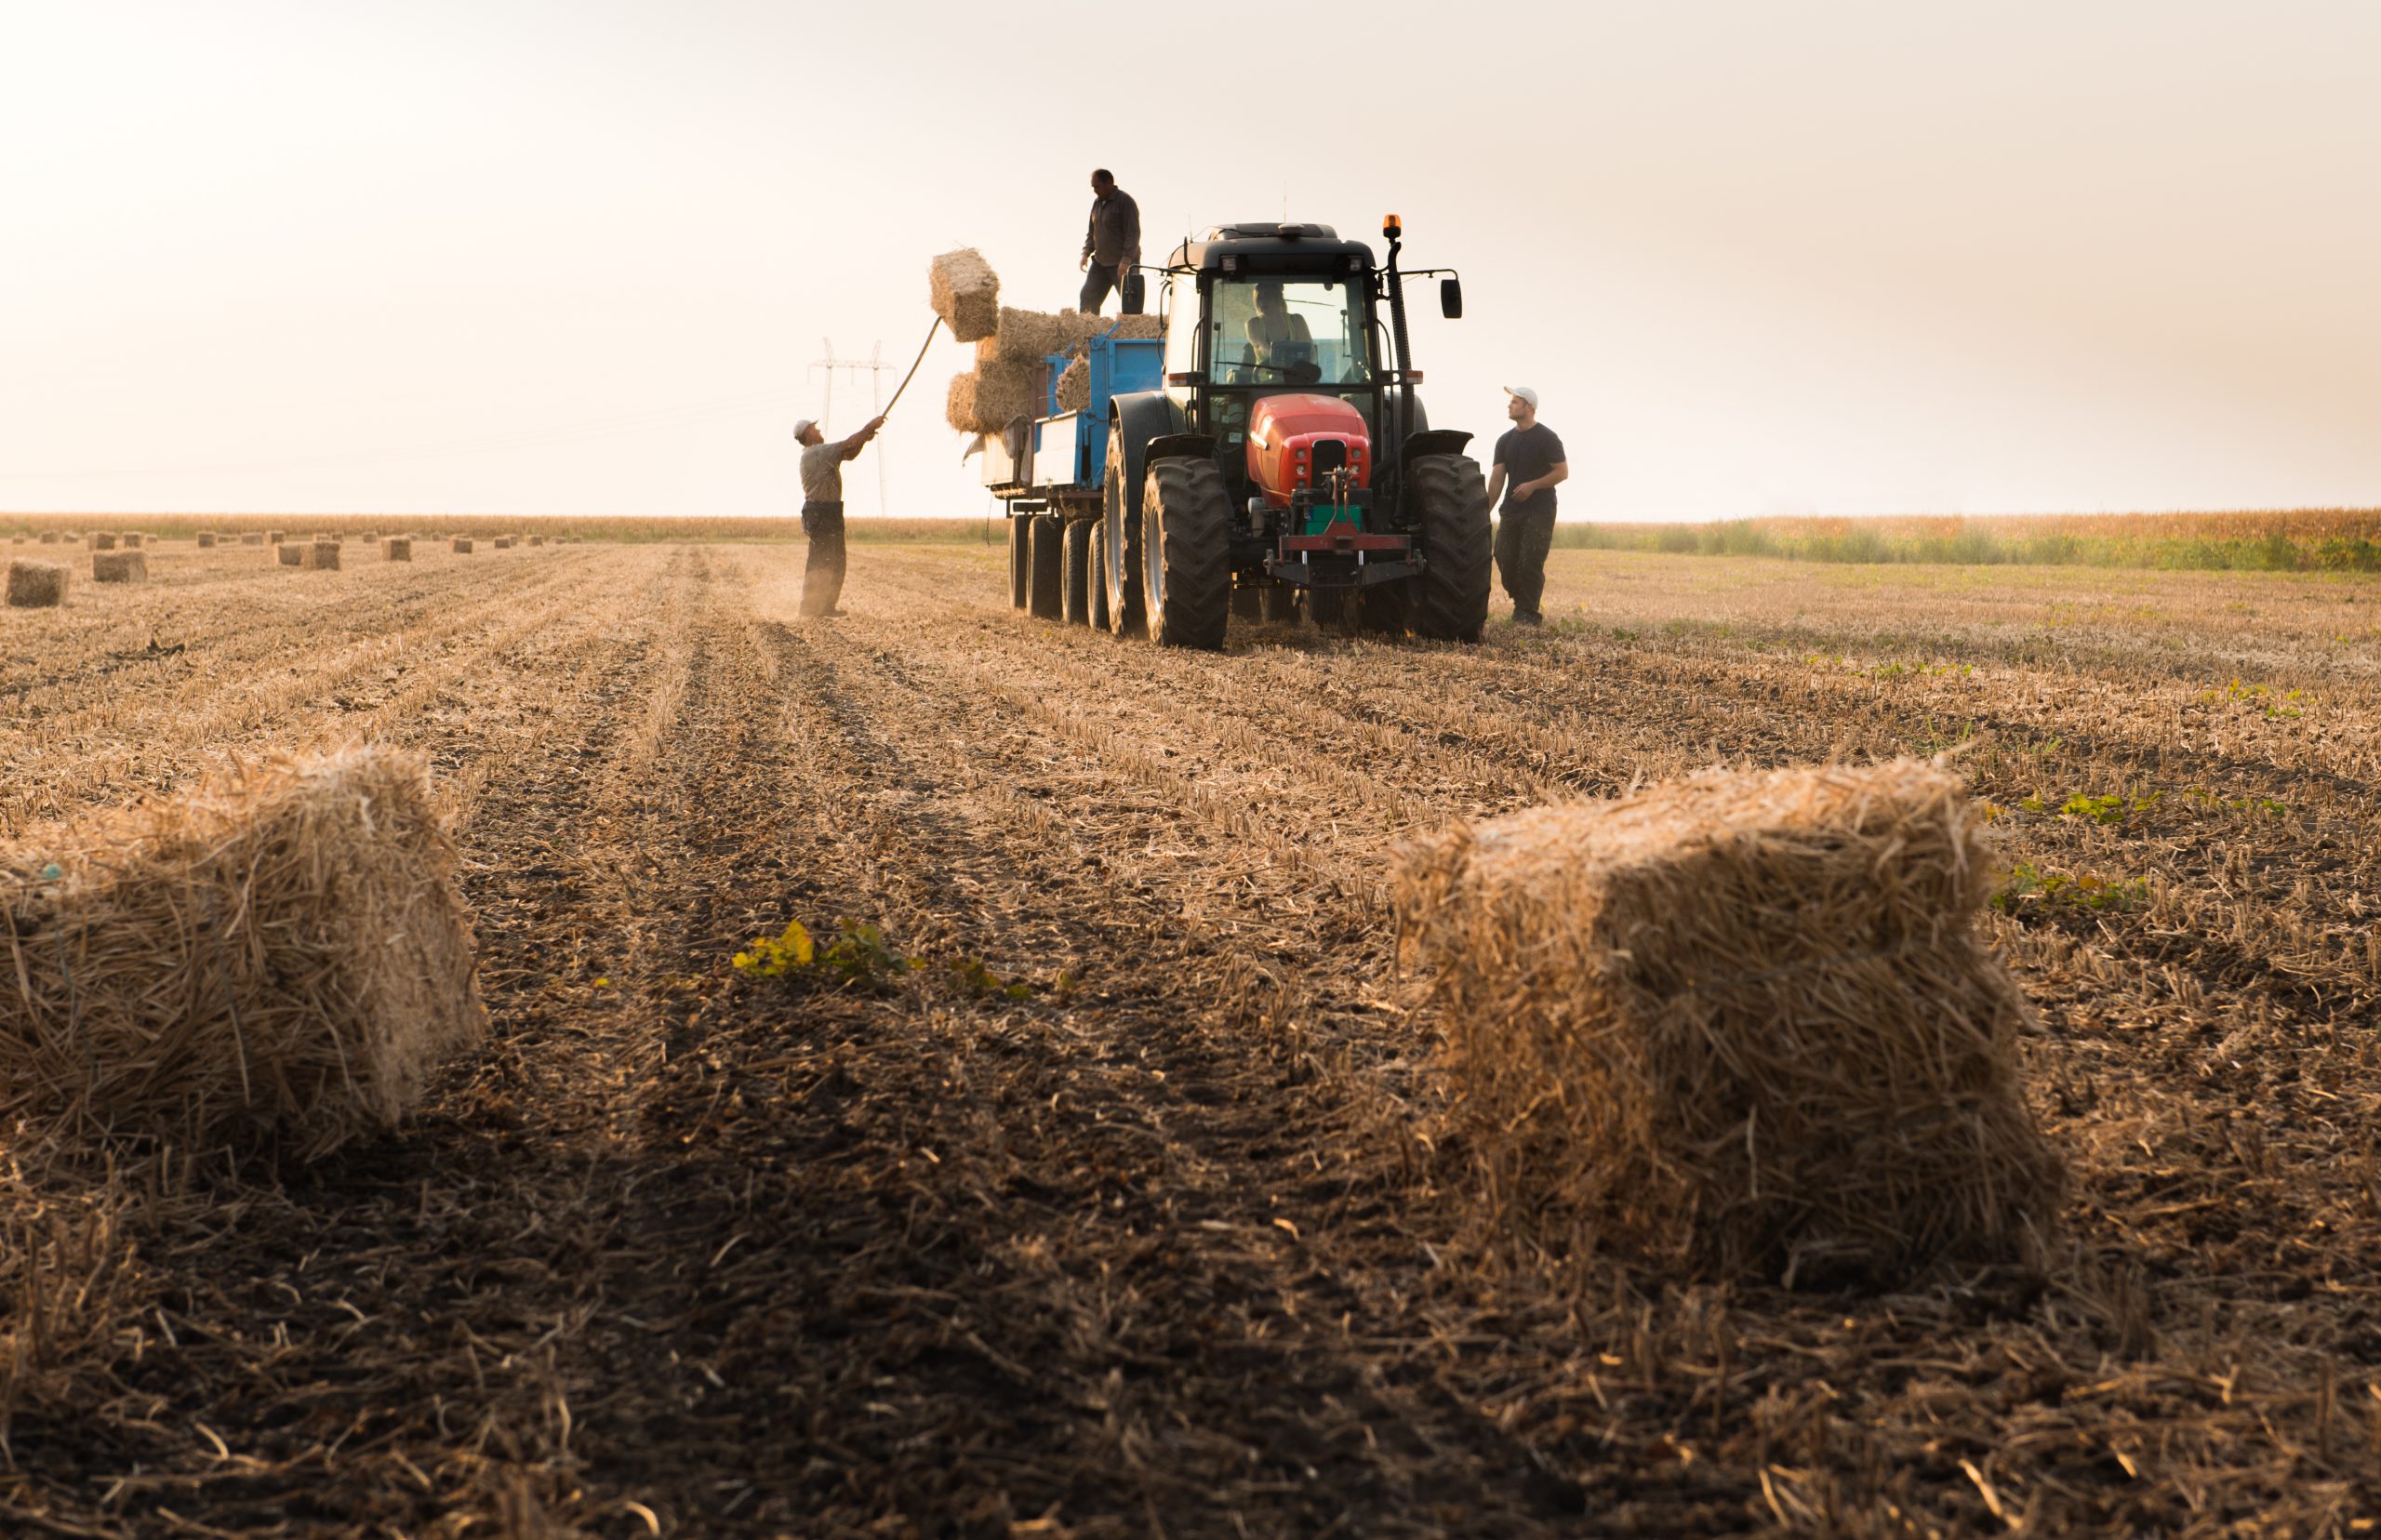
{"type": "Polygon", "coordinates": [[[1157,338],[1119,338],[1110,328],[1083,352],[1090,400],[1081,409],[1060,409],[1057,383],[1071,359],[1050,355],[1040,369],[1040,414],[983,438],[983,486],[1010,517],[1010,600],[1079,626],[1098,619],[1090,559],[1110,462],[1110,400],[1164,388],[1157,338]],[[1074,614],[1079,607],[1083,614],[1074,614]]]}

